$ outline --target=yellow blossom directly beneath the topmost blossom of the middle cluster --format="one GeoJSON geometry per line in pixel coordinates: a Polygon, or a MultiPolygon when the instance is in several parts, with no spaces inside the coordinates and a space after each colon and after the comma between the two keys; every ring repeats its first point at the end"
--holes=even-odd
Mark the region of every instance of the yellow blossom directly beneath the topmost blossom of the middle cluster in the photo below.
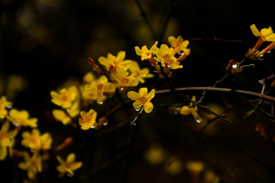
{"type": "Polygon", "coordinates": [[[128,75],[123,69],[117,69],[116,72],[111,73],[111,79],[115,81],[116,87],[136,86],[139,80],[134,77],[134,74],[128,75]]]}

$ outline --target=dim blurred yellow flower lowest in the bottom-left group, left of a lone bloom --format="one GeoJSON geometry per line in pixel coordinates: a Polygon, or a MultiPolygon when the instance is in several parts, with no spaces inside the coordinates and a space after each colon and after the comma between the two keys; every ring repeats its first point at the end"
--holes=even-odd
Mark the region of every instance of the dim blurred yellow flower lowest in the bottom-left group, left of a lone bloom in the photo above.
{"type": "Polygon", "coordinates": [[[39,152],[34,153],[31,158],[28,153],[24,153],[25,162],[18,164],[19,168],[28,171],[28,177],[32,180],[35,178],[37,172],[42,172],[42,159],[38,154],[39,152]]]}

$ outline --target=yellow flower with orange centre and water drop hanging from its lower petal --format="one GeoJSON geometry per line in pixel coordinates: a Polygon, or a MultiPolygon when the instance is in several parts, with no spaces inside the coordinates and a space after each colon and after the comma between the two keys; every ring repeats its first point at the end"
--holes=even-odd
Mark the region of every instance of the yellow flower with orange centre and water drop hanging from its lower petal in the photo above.
{"type": "Polygon", "coordinates": [[[105,100],[105,96],[103,93],[112,93],[115,92],[116,87],[114,83],[108,82],[106,76],[100,76],[98,82],[92,82],[90,86],[86,88],[88,92],[91,93],[91,98],[96,100],[98,104],[102,104],[103,100],[105,100]]]}

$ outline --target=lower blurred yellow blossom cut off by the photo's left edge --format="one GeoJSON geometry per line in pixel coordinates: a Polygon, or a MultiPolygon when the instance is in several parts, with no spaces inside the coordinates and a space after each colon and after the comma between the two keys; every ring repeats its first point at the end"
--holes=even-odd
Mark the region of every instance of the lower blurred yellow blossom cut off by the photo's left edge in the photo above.
{"type": "Polygon", "coordinates": [[[14,137],[17,134],[16,130],[9,130],[9,122],[6,121],[0,131],[0,161],[7,157],[7,147],[11,148],[14,144],[14,137]]]}

